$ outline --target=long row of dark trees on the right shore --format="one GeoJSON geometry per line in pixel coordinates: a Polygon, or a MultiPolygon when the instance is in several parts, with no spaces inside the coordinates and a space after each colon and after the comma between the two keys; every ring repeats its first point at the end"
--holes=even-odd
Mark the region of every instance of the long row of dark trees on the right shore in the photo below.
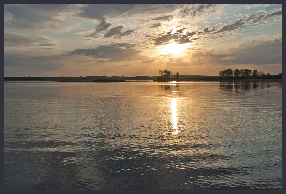
{"type": "Polygon", "coordinates": [[[264,77],[273,77],[273,76],[279,76],[281,73],[277,75],[270,75],[270,73],[265,74],[263,71],[257,71],[257,70],[250,70],[250,69],[226,69],[223,71],[219,71],[220,77],[253,77],[253,78],[264,78],[264,77]]]}

